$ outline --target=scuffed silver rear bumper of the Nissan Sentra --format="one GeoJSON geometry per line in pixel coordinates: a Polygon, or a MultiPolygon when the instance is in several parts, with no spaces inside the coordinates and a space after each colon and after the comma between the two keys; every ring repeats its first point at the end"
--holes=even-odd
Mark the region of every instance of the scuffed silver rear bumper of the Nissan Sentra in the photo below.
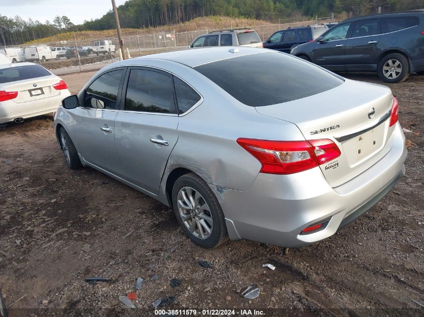
{"type": "Polygon", "coordinates": [[[376,204],[404,175],[405,138],[397,123],[390,151],[352,180],[332,188],[319,168],[292,175],[259,173],[245,192],[212,186],[231,239],[302,247],[325,239],[376,204]],[[330,218],[325,229],[300,234],[330,218]]]}

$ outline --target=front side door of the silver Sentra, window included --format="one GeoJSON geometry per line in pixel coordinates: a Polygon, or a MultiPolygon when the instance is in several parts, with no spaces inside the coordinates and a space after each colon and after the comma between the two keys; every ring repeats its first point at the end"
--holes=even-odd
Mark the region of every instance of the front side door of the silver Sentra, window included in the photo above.
{"type": "Polygon", "coordinates": [[[125,69],[97,77],[80,95],[80,107],[73,111],[74,137],[78,152],[89,165],[122,176],[114,145],[115,117],[125,69]]]}

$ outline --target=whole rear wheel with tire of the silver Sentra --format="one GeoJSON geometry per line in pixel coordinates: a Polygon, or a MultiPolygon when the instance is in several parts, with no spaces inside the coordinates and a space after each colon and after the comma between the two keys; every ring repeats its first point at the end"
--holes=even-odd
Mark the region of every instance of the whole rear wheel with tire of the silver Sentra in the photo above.
{"type": "Polygon", "coordinates": [[[189,173],[176,180],[172,189],[172,203],[181,228],[194,243],[210,249],[227,240],[224,213],[218,199],[198,175],[189,173]],[[183,203],[180,204],[179,200],[183,203]]]}

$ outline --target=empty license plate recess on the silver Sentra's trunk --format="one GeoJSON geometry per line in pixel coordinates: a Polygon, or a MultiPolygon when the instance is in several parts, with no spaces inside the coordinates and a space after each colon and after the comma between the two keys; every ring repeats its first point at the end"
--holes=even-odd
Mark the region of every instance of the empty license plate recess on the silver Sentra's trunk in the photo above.
{"type": "Polygon", "coordinates": [[[383,147],[385,124],[342,143],[349,165],[352,167],[372,156],[383,147]]]}

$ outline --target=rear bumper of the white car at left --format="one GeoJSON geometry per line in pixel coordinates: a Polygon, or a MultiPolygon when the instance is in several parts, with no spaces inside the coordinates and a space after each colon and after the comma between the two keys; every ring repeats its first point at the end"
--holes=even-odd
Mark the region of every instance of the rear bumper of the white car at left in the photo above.
{"type": "Polygon", "coordinates": [[[56,111],[62,100],[71,93],[69,90],[61,90],[60,94],[44,99],[15,103],[8,100],[0,103],[0,123],[12,122],[16,118],[32,118],[56,111]]]}

